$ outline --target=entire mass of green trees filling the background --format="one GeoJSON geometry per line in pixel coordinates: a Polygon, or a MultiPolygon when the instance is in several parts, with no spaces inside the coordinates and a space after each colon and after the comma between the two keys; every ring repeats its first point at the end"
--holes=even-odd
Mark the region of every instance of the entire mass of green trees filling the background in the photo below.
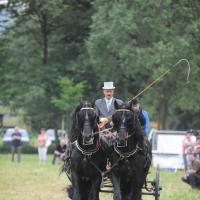
{"type": "Polygon", "coordinates": [[[104,81],[128,100],[182,58],[189,84],[182,62],[139,99],[160,129],[199,128],[199,1],[9,0],[5,8],[14,21],[0,35],[0,100],[23,108],[33,129],[58,129],[62,117],[69,126],[78,97],[102,98],[104,81]]]}

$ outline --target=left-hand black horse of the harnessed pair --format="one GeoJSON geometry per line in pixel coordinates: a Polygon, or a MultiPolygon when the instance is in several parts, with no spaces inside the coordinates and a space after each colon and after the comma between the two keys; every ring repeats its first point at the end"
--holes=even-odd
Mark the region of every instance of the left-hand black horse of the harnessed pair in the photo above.
{"type": "Polygon", "coordinates": [[[73,200],[99,200],[101,172],[106,171],[106,146],[101,141],[92,102],[82,101],[71,114],[71,153],[69,162],[72,185],[68,187],[68,196],[73,200]],[[103,150],[104,149],[104,150],[103,150]]]}

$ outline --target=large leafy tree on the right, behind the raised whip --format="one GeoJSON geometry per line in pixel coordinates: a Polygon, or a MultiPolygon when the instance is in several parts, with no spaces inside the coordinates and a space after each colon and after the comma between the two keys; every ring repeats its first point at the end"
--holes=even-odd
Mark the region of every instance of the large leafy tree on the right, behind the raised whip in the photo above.
{"type": "Polygon", "coordinates": [[[199,91],[199,83],[193,80],[199,71],[195,59],[200,3],[101,0],[95,3],[95,8],[87,49],[96,73],[106,72],[100,79],[115,80],[119,88],[117,97],[128,100],[186,58],[192,66],[190,84],[185,84],[187,65],[181,63],[140,98],[151,119],[157,118],[159,129],[169,127],[171,104],[197,112],[197,96],[193,91],[199,91]]]}

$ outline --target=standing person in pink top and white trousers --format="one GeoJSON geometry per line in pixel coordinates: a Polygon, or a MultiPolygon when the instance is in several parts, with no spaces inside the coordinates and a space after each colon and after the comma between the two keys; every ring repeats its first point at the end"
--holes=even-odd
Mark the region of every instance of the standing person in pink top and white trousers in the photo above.
{"type": "Polygon", "coordinates": [[[46,162],[46,156],[47,156],[47,147],[45,146],[48,136],[45,134],[45,129],[42,128],[41,134],[38,135],[38,154],[39,154],[39,163],[41,164],[43,160],[43,165],[45,165],[46,162]]]}

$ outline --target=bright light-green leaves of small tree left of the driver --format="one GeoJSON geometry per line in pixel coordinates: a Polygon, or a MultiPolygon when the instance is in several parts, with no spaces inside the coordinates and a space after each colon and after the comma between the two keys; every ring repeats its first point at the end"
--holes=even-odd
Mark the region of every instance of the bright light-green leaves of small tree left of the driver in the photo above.
{"type": "Polygon", "coordinates": [[[72,111],[77,105],[77,99],[83,96],[84,84],[85,81],[74,84],[73,79],[60,77],[60,99],[52,97],[52,102],[63,111],[72,111]]]}

